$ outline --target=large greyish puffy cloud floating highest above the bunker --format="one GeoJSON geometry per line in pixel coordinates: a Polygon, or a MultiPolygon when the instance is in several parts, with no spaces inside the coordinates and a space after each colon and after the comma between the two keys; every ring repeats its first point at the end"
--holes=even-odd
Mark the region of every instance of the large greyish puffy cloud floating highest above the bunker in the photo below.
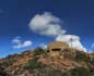
{"type": "Polygon", "coordinates": [[[47,36],[58,36],[66,33],[60,26],[60,20],[48,12],[36,14],[30,22],[30,28],[39,35],[47,36]]]}

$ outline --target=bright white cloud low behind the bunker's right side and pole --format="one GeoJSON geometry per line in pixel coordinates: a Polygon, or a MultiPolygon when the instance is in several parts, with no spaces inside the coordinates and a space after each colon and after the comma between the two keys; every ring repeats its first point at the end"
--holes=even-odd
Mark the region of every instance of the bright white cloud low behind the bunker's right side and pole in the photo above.
{"type": "Polygon", "coordinates": [[[77,50],[82,50],[86,52],[86,49],[82,46],[80,37],[75,35],[60,35],[56,38],[57,41],[63,41],[77,50]]]}

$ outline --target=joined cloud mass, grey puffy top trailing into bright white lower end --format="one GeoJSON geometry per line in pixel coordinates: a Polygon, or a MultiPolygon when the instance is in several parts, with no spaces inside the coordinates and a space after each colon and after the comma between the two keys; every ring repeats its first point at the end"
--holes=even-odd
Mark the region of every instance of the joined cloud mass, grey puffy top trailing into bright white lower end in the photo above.
{"type": "Polygon", "coordinates": [[[75,35],[66,35],[66,29],[61,27],[59,17],[49,12],[36,14],[30,22],[30,28],[39,35],[55,36],[57,41],[64,41],[72,48],[86,51],[80,41],[80,37],[75,35]],[[71,40],[71,41],[70,41],[71,40]]]}

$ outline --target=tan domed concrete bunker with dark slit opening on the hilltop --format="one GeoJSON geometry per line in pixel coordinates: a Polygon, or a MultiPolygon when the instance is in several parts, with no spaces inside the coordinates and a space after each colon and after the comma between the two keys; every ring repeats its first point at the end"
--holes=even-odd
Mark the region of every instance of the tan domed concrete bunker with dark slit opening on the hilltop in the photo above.
{"type": "Polygon", "coordinates": [[[68,51],[69,48],[68,43],[62,41],[55,41],[48,45],[47,52],[51,56],[60,55],[61,52],[68,51]]]}

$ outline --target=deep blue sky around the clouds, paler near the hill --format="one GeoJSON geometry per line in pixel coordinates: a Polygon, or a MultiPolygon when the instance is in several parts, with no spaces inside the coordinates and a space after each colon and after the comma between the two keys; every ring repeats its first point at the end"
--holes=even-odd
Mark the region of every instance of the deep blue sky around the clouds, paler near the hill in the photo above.
{"type": "Polygon", "coordinates": [[[45,12],[60,18],[67,34],[79,36],[87,50],[94,43],[93,0],[0,0],[0,58],[55,40],[28,27],[36,14],[45,12]],[[12,40],[16,37],[21,37],[22,43],[30,40],[33,45],[14,49],[12,40]]]}

